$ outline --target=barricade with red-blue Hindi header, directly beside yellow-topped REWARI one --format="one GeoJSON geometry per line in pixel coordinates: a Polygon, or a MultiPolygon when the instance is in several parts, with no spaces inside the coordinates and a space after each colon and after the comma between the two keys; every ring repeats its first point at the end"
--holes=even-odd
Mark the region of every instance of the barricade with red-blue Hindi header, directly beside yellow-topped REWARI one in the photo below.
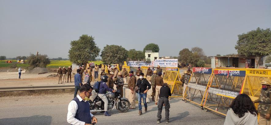
{"type": "Polygon", "coordinates": [[[245,80],[245,68],[215,68],[203,107],[226,116],[229,105],[239,95],[245,80]]]}

